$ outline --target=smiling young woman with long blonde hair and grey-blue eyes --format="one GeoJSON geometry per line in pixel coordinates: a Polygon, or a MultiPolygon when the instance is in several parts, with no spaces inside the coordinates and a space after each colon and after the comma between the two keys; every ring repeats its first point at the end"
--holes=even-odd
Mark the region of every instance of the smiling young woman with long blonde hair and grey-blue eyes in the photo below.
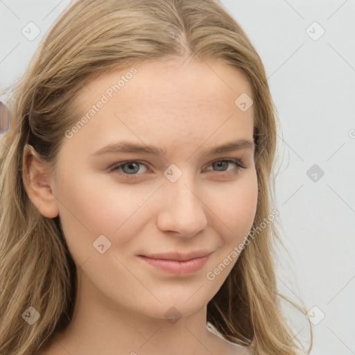
{"type": "Polygon", "coordinates": [[[275,107],[217,1],[76,1],[7,102],[1,354],[303,354],[275,107]]]}

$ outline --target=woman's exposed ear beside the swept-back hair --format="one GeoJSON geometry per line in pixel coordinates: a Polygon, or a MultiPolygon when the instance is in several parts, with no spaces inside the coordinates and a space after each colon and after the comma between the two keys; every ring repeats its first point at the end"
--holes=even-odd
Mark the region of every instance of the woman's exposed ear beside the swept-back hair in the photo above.
{"type": "Polygon", "coordinates": [[[24,188],[33,205],[47,218],[58,216],[57,201],[51,190],[51,170],[29,144],[26,144],[24,148],[22,166],[24,188]]]}

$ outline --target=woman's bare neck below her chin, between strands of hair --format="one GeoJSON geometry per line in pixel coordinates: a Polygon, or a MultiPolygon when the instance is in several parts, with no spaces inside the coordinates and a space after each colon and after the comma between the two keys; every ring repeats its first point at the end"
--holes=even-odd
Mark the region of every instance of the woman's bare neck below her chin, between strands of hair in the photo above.
{"type": "Polygon", "coordinates": [[[207,306],[181,318],[176,309],[166,309],[166,318],[128,309],[94,291],[82,277],[73,319],[51,346],[85,355],[210,355],[216,335],[207,330],[207,306]]]}

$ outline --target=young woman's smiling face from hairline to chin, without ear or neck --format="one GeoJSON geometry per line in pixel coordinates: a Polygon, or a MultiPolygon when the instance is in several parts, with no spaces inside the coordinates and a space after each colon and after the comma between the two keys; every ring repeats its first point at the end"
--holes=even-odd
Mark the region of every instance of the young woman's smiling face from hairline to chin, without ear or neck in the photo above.
{"type": "Polygon", "coordinates": [[[79,92],[51,188],[88,297],[155,318],[214,297],[257,209],[251,97],[239,71],[197,60],[79,92]]]}

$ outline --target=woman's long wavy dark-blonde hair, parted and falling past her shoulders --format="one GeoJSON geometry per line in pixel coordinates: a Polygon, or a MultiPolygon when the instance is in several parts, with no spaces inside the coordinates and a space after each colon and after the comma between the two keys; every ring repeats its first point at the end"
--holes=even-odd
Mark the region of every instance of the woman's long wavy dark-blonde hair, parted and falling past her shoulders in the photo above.
{"type": "MultiPolygon", "coordinates": [[[[71,105],[87,80],[139,62],[193,56],[230,64],[252,85],[259,185],[253,228],[270,214],[277,113],[257,51],[218,0],[75,1],[7,91],[12,129],[0,140],[1,354],[35,354],[50,343],[71,321],[77,290],[59,216],[42,216],[24,189],[27,144],[55,168],[64,132],[78,121],[71,105]],[[32,325],[22,317],[30,306],[40,313],[32,325]]],[[[248,241],[207,304],[207,321],[252,354],[303,354],[280,307],[287,298],[277,291],[276,242],[275,223],[248,241]]]]}

